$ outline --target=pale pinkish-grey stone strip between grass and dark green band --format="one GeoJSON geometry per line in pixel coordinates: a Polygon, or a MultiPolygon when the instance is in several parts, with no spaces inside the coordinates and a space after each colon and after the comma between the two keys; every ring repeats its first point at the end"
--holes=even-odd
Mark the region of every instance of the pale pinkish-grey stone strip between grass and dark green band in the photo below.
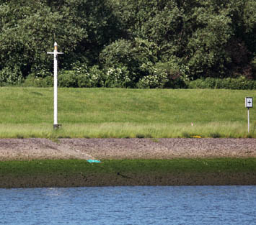
{"type": "Polygon", "coordinates": [[[256,157],[256,139],[0,139],[0,160],[256,157]]]}

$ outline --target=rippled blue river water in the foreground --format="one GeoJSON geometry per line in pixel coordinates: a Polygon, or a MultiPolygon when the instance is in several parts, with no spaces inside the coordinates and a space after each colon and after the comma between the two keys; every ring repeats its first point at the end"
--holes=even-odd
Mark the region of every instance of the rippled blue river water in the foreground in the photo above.
{"type": "Polygon", "coordinates": [[[0,189],[0,224],[256,224],[256,186],[0,189]]]}

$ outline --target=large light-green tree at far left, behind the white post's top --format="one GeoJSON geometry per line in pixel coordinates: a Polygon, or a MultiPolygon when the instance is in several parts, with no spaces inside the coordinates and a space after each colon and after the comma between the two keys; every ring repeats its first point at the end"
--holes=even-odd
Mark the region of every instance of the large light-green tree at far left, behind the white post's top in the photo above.
{"type": "Polygon", "coordinates": [[[0,21],[0,68],[19,68],[23,77],[29,73],[42,76],[42,70],[52,67],[46,51],[53,50],[54,41],[69,52],[86,35],[70,18],[35,0],[1,4],[0,21]]]}

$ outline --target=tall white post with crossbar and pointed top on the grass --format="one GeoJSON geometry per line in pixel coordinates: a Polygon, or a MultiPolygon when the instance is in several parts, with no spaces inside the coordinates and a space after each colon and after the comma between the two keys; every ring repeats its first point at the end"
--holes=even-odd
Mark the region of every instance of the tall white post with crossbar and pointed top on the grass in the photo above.
{"type": "Polygon", "coordinates": [[[47,54],[53,54],[53,68],[54,68],[54,112],[53,112],[53,129],[58,129],[61,124],[58,124],[58,54],[63,54],[63,52],[58,52],[58,45],[54,43],[54,51],[47,52],[47,54]]]}

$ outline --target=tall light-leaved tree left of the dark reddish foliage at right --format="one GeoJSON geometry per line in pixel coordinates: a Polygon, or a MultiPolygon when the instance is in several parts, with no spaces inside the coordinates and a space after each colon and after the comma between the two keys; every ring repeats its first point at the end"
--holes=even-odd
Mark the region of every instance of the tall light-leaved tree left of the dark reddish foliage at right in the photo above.
{"type": "Polygon", "coordinates": [[[229,63],[225,46],[234,31],[229,12],[225,9],[214,12],[214,7],[201,6],[193,9],[195,30],[187,42],[187,65],[190,77],[224,77],[225,63],[229,63]]]}

